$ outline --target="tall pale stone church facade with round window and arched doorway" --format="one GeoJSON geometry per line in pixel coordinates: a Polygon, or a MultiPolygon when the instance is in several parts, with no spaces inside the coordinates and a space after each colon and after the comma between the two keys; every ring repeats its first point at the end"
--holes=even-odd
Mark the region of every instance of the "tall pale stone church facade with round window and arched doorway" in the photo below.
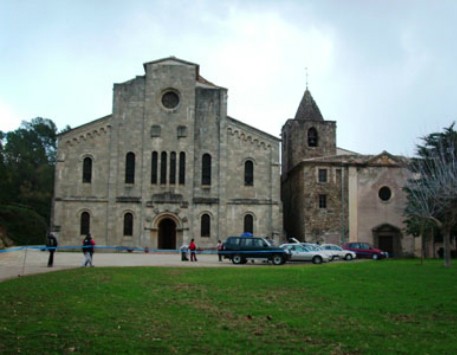
{"type": "Polygon", "coordinates": [[[280,140],[227,116],[227,89],[175,57],[115,84],[112,114],[58,137],[52,226],[63,245],[203,248],[279,240],[280,140]]]}

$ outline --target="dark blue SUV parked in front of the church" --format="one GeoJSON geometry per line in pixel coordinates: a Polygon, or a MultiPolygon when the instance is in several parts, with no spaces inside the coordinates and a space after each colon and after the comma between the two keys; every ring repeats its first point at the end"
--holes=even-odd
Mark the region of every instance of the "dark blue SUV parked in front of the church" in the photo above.
{"type": "Polygon", "coordinates": [[[267,259],[274,265],[281,265],[290,257],[287,251],[260,237],[228,237],[221,254],[234,264],[246,264],[247,259],[267,259]]]}

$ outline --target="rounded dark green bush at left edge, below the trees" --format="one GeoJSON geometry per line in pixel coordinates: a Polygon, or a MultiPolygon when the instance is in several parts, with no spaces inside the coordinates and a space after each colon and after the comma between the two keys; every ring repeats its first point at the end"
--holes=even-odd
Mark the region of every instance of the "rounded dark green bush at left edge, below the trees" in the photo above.
{"type": "Polygon", "coordinates": [[[42,216],[16,205],[0,205],[0,225],[15,245],[43,244],[48,230],[42,216]]]}

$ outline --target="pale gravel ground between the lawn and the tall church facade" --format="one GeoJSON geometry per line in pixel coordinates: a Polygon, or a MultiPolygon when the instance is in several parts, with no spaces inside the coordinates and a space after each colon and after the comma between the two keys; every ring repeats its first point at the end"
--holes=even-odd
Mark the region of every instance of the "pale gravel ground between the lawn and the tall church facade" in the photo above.
{"type": "MultiPolygon", "coordinates": [[[[78,252],[56,252],[54,266],[47,267],[49,253],[39,250],[19,250],[0,253],[0,281],[43,272],[80,268],[83,254],[78,252]]],[[[95,253],[97,266],[180,266],[180,267],[240,267],[228,259],[219,262],[215,254],[197,254],[197,262],[181,261],[178,253],[95,253]]],[[[256,261],[262,265],[261,261],[256,261]]],[[[263,264],[265,265],[265,264],[263,264]]]]}

